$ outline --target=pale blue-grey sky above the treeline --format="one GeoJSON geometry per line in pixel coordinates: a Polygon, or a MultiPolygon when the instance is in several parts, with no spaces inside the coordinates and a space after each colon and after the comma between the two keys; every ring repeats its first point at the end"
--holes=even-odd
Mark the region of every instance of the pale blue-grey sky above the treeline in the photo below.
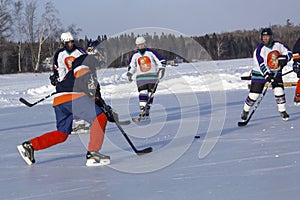
{"type": "MultiPolygon", "coordinates": [[[[43,6],[46,0],[38,0],[43,6]]],[[[201,36],[300,24],[299,0],[52,0],[64,25],[82,28],[80,37],[112,36],[142,27],[168,28],[201,36]]]]}

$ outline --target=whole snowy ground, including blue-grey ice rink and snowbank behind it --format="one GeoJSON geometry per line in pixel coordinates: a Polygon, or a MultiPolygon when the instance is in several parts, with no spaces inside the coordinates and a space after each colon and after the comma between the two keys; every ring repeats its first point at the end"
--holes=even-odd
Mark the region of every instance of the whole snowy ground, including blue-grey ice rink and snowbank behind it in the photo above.
{"type": "MultiPolygon", "coordinates": [[[[85,166],[86,135],[35,152],[27,166],[16,146],[55,129],[49,74],[0,76],[0,199],[298,199],[300,196],[300,112],[294,87],[286,88],[290,120],[279,117],[272,90],[246,127],[238,127],[248,94],[251,59],[169,66],[155,95],[151,120],[123,126],[134,154],[109,123],[103,149],[111,165],[85,166]],[[194,136],[200,136],[195,139],[194,136]]],[[[288,66],[284,71],[291,70],[288,66]]],[[[138,115],[137,91],[126,69],[98,71],[104,98],[121,119],[138,115]]],[[[294,73],[285,81],[297,81],[294,73]]]]}

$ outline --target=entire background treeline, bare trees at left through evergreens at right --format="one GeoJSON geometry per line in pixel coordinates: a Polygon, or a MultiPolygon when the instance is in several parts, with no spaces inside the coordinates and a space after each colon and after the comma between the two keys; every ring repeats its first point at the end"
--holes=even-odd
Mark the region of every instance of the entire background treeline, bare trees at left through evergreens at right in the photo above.
{"type": "MultiPolygon", "coordinates": [[[[37,13],[37,0],[0,1],[0,74],[17,72],[39,72],[46,58],[51,59],[61,47],[60,35],[70,31],[78,38],[82,30],[76,25],[63,26],[59,13],[51,1],[47,2],[41,14],[37,13]]],[[[300,26],[289,20],[285,25],[273,25],[275,40],[290,48],[300,37],[300,26]]],[[[103,65],[122,67],[128,63],[135,49],[135,33],[108,38],[101,36],[97,47],[103,65]]],[[[204,36],[186,37],[172,33],[147,34],[143,36],[147,45],[159,51],[168,60],[182,58],[185,61],[235,59],[251,57],[260,42],[260,30],[239,30],[228,33],[213,33],[204,36]]],[[[86,47],[89,38],[76,39],[78,46],[86,47]]]]}

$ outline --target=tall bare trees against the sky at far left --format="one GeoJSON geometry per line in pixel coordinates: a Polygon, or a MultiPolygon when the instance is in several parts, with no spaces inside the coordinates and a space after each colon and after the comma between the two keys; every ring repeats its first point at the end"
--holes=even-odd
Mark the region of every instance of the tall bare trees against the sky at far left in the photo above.
{"type": "Polygon", "coordinates": [[[40,71],[42,60],[58,49],[62,32],[77,36],[81,31],[74,24],[62,26],[51,1],[39,15],[39,4],[37,0],[0,1],[0,73],[40,71]]]}

